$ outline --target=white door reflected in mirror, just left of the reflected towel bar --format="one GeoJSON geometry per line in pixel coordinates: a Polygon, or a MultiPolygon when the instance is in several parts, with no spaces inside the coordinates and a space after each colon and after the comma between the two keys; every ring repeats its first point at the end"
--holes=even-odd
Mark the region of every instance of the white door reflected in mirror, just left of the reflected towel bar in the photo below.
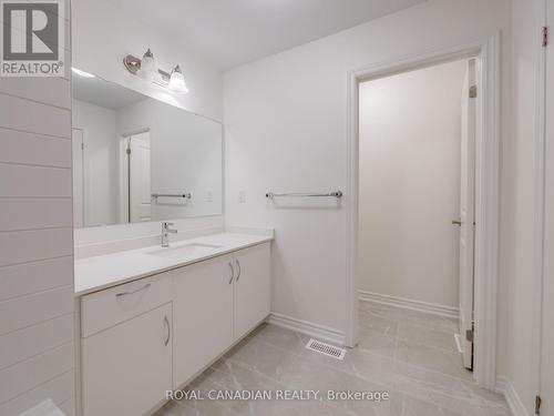
{"type": "Polygon", "coordinates": [[[129,143],[130,222],[151,221],[150,132],[131,136],[129,143]]]}

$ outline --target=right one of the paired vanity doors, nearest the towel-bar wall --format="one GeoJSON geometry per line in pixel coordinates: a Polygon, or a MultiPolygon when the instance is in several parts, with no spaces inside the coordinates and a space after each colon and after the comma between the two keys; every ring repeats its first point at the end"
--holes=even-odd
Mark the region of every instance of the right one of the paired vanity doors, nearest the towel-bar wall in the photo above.
{"type": "Polygon", "coordinates": [[[235,339],[253,329],[270,311],[269,243],[240,250],[234,255],[235,339]]]}

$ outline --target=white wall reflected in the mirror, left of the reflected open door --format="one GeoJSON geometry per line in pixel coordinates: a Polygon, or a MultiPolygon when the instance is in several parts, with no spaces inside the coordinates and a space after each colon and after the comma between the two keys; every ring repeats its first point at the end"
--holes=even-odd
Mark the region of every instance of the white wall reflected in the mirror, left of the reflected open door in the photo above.
{"type": "Polygon", "coordinates": [[[73,101],[73,128],[84,131],[84,219],[88,226],[117,222],[116,112],[73,101]]]}

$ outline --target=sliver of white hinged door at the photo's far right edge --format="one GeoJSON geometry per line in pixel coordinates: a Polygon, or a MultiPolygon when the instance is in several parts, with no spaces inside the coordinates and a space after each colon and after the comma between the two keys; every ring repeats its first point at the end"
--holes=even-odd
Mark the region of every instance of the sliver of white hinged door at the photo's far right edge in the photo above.
{"type": "MultiPolygon", "coordinates": [[[[554,27],[554,0],[547,2],[547,26],[554,27]]],[[[554,45],[546,48],[546,154],[541,415],[554,416],[554,45]]]]}

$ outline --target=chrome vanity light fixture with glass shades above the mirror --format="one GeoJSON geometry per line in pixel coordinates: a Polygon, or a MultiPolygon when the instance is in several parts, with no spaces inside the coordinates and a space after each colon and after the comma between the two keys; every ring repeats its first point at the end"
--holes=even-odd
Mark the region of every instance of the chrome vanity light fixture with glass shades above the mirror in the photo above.
{"type": "Polygon", "coordinates": [[[123,64],[133,75],[141,77],[157,85],[167,88],[173,92],[183,94],[188,92],[181,67],[176,65],[171,74],[161,70],[157,68],[154,54],[150,49],[144,53],[142,60],[132,54],[127,54],[123,58],[123,64]]]}

